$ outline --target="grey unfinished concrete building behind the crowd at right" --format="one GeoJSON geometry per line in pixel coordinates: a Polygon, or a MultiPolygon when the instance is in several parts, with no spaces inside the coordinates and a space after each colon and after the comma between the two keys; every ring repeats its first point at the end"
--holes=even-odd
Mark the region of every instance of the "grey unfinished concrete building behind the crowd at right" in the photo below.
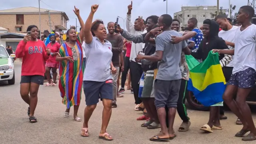
{"type": "MultiPolygon", "coordinates": [[[[198,27],[202,26],[206,19],[213,19],[211,13],[215,14],[217,6],[182,6],[180,12],[174,13],[174,18],[180,20],[182,26],[187,26],[188,19],[196,18],[198,20],[198,27]]],[[[223,9],[222,12],[226,12],[223,9]]]]}

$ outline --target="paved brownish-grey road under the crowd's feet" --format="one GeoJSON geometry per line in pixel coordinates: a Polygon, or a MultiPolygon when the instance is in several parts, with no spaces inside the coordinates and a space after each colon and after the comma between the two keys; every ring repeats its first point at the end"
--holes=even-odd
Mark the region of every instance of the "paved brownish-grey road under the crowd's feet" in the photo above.
{"type": "MultiPolygon", "coordinates": [[[[148,139],[157,134],[160,129],[148,130],[141,128],[142,121],[136,118],[142,112],[135,112],[134,98],[128,92],[124,98],[118,98],[118,108],[112,110],[108,132],[114,138],[112,142],[98,139],[101,127],[102,103],[94,111],[89,122],[90,137],[80,136],[82,122],[76,122],[72,118],[64,118],[65,105],[61,103],[58,87],[40,86],[38,93],[38,105],[36,117],[38,122],[31,124],[28,120],[27,105],[20,98],[20,62],[15,62],[16,84],[9,86],[6,82],[0,82],[0,144],[157,144],[148,139]]],[[[83,119],[85,102],[84,94],[78,116],[83,119]]],[[[73,110],[73,109],[72,109],[73,110]]],[[[72,111],[71,111],[72,112],[72,111]]],[[[235,125],[236,117],[231,112],[226,112],[228,120],[222,120],[223,130],[215,130],[206,134],[199,130],[206,124],[209,112],[188,110],[191,118],[191,126],[188,132],[177,132],[174,140],[166,143],[175,144],[244,144],[241,138],[234,138],[234,134],[241,126],[235,125]]],[[[256,115],[254,114],[254,122],[256,115]]],[[[181,120],[176,115],[174,128],[177,131],[181,120]]],[[[162,144],[162,142],[159,142],[162,144]]],[[[255,144],[246,142],[246,144],[255,144]]]]}

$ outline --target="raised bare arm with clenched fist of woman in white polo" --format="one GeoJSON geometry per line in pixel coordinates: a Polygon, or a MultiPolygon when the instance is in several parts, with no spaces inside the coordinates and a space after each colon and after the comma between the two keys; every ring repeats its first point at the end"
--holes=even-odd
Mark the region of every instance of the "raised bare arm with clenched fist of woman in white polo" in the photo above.
{"type": "Polygon", "coordinates": [[[91,6],[91,12],[84,24],[84,38],[85,38],[85,43],[90,44],[92,42],[92,32],[91,32],[91,27],[92,27],[92,19],[94,16],[94,13],[97,11],[99,5],[94,4],[91,6]]]}

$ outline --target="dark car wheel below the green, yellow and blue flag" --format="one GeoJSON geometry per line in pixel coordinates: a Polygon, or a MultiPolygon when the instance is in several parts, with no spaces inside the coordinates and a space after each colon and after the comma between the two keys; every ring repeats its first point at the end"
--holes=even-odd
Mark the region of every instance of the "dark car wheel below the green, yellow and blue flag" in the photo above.
{"type": "Polygon", "coordinates": [[[198,100],[196,100],[196,97],[194,96],[193,92],[188,91],[186,92],[186,100],[193,110],[200,110],[200,111],[206,111],[209,110],[209,107],[206,107],[202,105],[198,100]]]}

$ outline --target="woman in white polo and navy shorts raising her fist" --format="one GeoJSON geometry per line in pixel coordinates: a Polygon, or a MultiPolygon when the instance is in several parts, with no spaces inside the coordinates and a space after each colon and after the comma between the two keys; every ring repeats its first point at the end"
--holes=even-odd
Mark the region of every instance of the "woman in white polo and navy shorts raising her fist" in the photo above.
{"type": "Polygon", "coordinates": [[[116,73],[112,59],[112,45],[106,40],[107,31],[101,20],[92,23],[94,13],[99,5],[92,5],[91,12],[84,26],[86,67],[84,71],[84,124],[81,136],[87,137],[88,121],[97,106],[99,99],[103,103],[102,127],[99,138],[113,140],[106,132],[112,112],[113,85],[112,74],[116,73]],[[111,74],[112,71],[112,74],[111,74]]]}

